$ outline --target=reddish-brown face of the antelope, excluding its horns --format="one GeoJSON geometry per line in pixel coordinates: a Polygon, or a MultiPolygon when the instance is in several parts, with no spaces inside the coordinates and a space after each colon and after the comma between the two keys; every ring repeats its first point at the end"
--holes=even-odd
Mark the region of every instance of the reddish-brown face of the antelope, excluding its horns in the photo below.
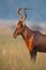
{"type": "Polygon", "coordinates": [[[16,30],[14,31],[13,37],[16,38],[17,36],[21,34],[25,29],[25,26],[22,25],[22,22],[19,20],[16,27],[16,30]]]}

